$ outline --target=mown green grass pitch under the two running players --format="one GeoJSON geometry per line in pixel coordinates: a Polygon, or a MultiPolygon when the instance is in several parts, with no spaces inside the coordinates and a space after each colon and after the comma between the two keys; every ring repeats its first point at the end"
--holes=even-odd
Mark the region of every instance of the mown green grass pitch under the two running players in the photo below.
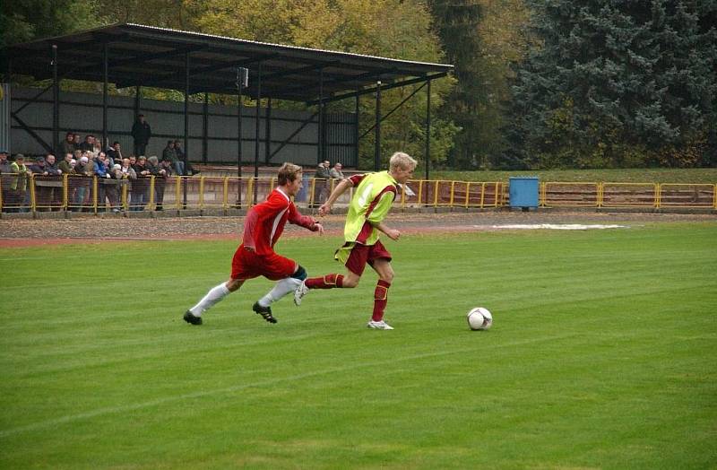
{"type": "MultiPolygon", "coordinates": [[[[0,468],[715,468],[717,224],[406,236],[251,312],[230,241],[0,251],[0,468]],[[465,312],[495,323],[471,332],[465,312]]],[[[335,238],[283,239],[309,274],[335,238]]]]}

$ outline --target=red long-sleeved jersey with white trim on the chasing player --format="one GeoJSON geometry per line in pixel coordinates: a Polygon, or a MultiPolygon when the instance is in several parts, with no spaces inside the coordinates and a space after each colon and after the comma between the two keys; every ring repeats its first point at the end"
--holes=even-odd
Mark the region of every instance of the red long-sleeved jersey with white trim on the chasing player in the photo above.
{"type": "Polygon", "coordinates": [[[242,246],[254,248],[257,255],[269,255],[281,237],[286,222],[317,231],[313,217],[302,215],[280,187],[275,188],[266,200],[255,205],[246,214],[242,246]]]}

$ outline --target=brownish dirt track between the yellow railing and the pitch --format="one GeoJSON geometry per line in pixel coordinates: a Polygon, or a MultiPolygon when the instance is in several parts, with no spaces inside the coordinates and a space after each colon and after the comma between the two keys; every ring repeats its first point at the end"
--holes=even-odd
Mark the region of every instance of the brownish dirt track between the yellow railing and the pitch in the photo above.
{"type": "MultiPolygon", "coordinates": [[[[324,217],[329,233],[341,233],[344,217],[324,217]]],[[[86,217],[66,220],[0,220],[0,247],[48,245],[107,239],[238,239],[243,217],[175,217],[157,219],[86,217]]],[[[587,212],[483,212],[393,213],[389,222],[405,233],[424,231],[496,230],[506,224],[638,224],[650,222],[713,221],[713,214],[587,213],[587,212]]],[[[288,224],[287,235],[308,234],[288,224]]]]}

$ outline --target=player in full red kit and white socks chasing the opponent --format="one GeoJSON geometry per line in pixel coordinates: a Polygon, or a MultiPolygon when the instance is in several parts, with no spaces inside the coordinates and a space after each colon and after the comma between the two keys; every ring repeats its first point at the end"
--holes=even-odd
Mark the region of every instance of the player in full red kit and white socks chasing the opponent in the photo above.
{"type": "Polygon", "coordinates": [[[246,214],[244,238],[231,261],[231,276],[226,283],[212,287],[199,303],[186,310],[185,321],[202,325],[202,314],[214,304],[235,292],[247,279],[260,275],[278,281],[273,289],[257,300],[252,307],[269,323],[276,323],[272,316],[272,302],[294,292],[307,278],[307,271],[296,261],[274,252],[274,244],[281,237],[286,222],[324,233],[324,227],[313,217],[298,212],[291,197],[301,189],[301,167],[284,163],[279,169],[279,186],[266,200],[252,207],[246,214]]]}

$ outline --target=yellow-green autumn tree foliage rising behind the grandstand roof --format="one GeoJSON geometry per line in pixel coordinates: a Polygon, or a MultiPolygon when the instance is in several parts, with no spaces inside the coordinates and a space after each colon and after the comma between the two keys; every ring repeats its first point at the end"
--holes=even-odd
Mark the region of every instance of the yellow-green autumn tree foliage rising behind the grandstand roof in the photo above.
{"type": "MultiPolygon", "coordinates": [[[[425,4],[418,0],[274,0],[271,3],[249,0],[237,8],[230,0],[187,0],[197,12],[197,30],[224,36],[324,48],[408,60],[441,62],[440,42],[431,30],[431,18],[425,4]],[[195,4],[193,2],[196,2],[195,4]]],[[[432,107],[443,102],[453,81],[436,80],[432,84],[432,107]]],[[[382,111],[386,114],[412,90],[384,91],[382,111]]],[[[382,123],[381,154],[384,163],[396,150],[422,155],[425,131],[426,98],[423,91],[408,100],[392,117],[382,123]],[[421,97],[423,95],[423,97],[421,97]]],[[[276,103],[281,107],[282,103],[276,103]]],[[[286,105],[284,105],[286,106],[286,105]]],[[[289,105],[290,106],[290,105],[289,105]]],[[[330,109],[354,110],[352,100],[332,103],[330,109]]],[[[366,129],[374,122],[372,100],[360,101],[360,122],[366,129]]],[[[445,161],[456,128],[450,119],[436,118],[432,123],[433,163],[445,161]]],[[[373,167],[374,135],[360,142],[361,166],[373,167]]]]}

